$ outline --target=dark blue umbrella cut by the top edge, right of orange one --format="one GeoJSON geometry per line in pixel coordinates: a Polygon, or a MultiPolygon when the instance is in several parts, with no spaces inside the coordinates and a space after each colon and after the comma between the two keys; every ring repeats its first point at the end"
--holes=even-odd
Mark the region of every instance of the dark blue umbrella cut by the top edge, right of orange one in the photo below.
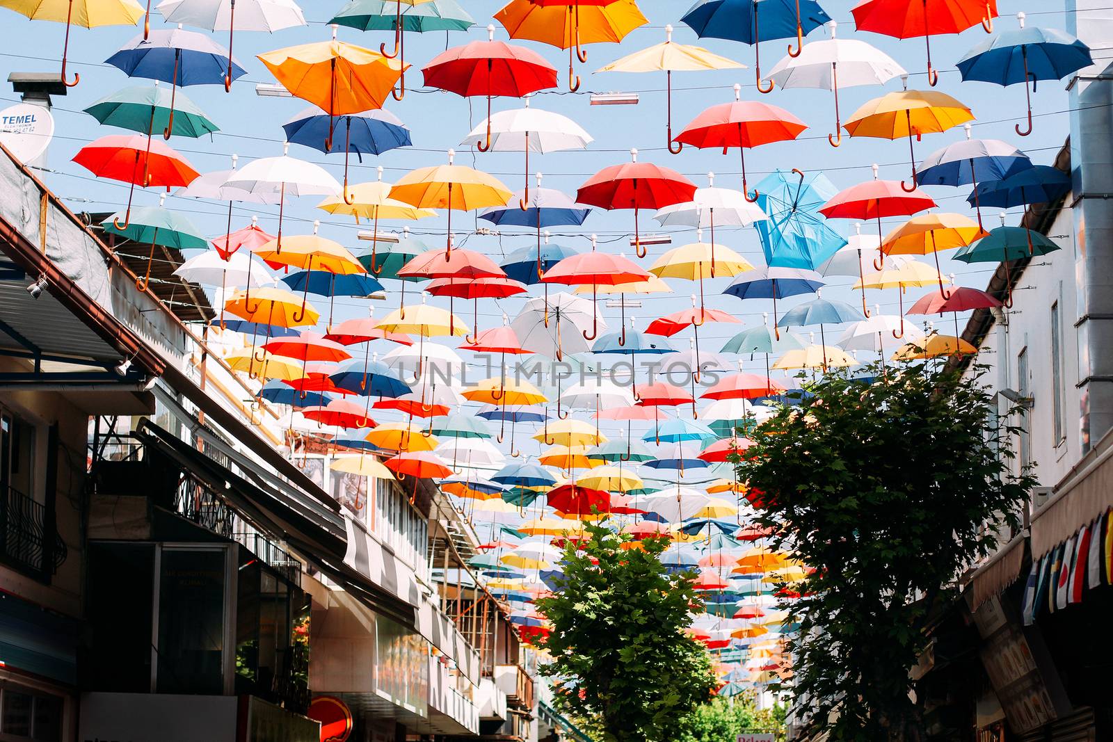
{"type": "Polygon", "coordinates": [[[761,82],[761,39],[796,37],[796,49],[788,46],[790,57],[798,57],[804,36],[824,26],[830,16],[815,0],[697,0],[683,18],[701,39],[726,39],[754,44],[754,72],[761,92],[771,92],[772,82],[761,82]],[[760,19],[759,19],[760,16],[760,19]]]}

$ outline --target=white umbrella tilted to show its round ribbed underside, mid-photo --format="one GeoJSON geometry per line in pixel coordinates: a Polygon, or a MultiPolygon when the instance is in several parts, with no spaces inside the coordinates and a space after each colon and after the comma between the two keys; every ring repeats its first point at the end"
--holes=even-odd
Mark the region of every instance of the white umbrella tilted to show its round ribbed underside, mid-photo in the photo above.
{"type": "MultiPolygon", "coordinates": [[[[565,354],[591,350],[583,333],[591,327],[593,309],[590,299],[560,291],[526,301],[510,326],[524,349],[563,360],[565,354]]],[[[607,329],[601,318],[599,328],[607,329]]]]}

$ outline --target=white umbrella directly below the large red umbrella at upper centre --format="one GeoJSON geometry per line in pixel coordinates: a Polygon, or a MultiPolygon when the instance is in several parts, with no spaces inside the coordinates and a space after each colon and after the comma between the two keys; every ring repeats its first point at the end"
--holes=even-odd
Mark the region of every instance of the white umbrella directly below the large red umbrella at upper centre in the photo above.
{"type": "Polygon", "coordinates": [[[552,111],[530,108],[513,108],[499,111],[490,119],[483,119],[461,142],[463,147],[474,146],[481,152],[525,152],[525,195],[522,208],[530,200],[530,152],[556,152],[565,149],[587,149],[594,141],[579,123],[552,111]]]}

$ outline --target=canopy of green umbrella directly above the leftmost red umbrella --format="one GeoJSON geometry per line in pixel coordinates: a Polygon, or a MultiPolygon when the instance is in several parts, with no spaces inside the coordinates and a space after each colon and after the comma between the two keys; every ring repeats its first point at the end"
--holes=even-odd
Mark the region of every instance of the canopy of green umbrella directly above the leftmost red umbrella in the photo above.
{"type": "MultiPolygon", "coordinates": [[[[170,91],[162,90],[156,82],[154,86],[134,86],[117,90],[89,106],[85,112],[106,126],[150,136],[152,131],[166,129],[171,120],[170,110],[170,91]]],[[[196,139],[218,130],[201,109],[185,96],[177,99],[174,110],[171,135],[196,139]]]]}

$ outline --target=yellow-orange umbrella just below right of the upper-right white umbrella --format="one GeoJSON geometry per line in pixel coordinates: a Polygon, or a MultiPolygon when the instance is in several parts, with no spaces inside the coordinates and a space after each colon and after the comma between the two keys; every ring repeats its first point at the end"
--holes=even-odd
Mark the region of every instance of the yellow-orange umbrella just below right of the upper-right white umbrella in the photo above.
{"type": "Polygon", "coordinates": [[[964,103],[935,90],[900,90],[874,98],[854,112],[843,125],[851,137],[900,139],[908,137],[912,158],[912,186],[900,181],[906,192],[916,190],[916,151],[913,137],[946,131],[951,127],[973,121],[974,115],[964,103]]]}

